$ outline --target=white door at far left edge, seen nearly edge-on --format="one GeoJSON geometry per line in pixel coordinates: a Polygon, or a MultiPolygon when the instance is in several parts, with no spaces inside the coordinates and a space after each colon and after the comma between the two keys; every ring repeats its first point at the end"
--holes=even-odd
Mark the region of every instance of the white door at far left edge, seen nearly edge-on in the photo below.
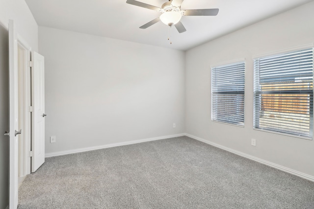
{"type": "Polygon", "coordinates": [[[18,74],[17,74],[17,34],[13,20],[9,20],[9,108],[10,108],[10,169],[9,207],[18,206],[18,74]]]}

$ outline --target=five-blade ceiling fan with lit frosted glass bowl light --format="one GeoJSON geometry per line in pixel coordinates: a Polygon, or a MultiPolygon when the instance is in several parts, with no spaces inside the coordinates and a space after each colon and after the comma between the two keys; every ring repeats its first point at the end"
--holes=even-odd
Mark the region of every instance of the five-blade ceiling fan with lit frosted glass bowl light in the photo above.
{"type": "Polygon", "coordinates": [[[186,31],[185,27],[181,23],[181,18],[182,16],[216,16],[219,12],[219,9],[186,9],[186,10],[181,10],[181,4],[183,0],[169,0],[168,2],[164,3],[160,7],[153,6],[147,3],[143,3],[137,0],[127,0],[127,3],[135,5],[135,6],[140,6],[144,7],[147,9],[152,9],[157,12],[161,12],[162,14],[140,26],[139,28],[145,29],[148,28],[149,26],[158,23],[161,21],[162,23],[169,25],[170,27],[172,25],[175,25],[179,33],[183,33],[186,31]]]}

